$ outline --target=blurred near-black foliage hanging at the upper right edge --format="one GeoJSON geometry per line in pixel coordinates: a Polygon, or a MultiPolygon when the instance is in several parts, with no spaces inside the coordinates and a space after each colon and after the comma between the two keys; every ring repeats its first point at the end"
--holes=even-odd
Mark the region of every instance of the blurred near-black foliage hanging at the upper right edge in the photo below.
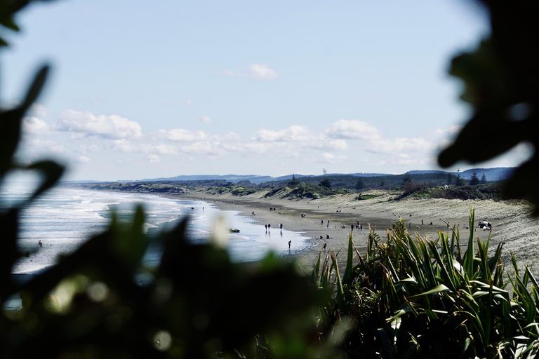
{"type": "Polygon", "coordinates": [[[483,0],[491,19],[491,36],[476,50],[453,59],[451,74],[462,79],[461,98],[474,113],[457,139],[438,161],[448,167],[458,161],[479,163],[504,154],[521,142],[535,151],[507,180],[509,196],[526,198],[539,215],[539,42],[536,1],[483,0]],[[488,136],[478,136],[488,130],[488,136]]]}

